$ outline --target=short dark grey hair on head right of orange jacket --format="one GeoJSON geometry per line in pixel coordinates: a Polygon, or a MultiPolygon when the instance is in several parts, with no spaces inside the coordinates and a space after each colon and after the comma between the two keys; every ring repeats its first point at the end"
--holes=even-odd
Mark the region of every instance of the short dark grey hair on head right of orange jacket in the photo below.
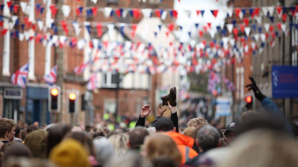
{"type": "Polygon", "coordinates": [[[203,126],[197,134],[199,146],[203,149],[203,151],[216,148],[218,146],[219,138],[220,134],[218,130],[211,125],[203,126]]]}

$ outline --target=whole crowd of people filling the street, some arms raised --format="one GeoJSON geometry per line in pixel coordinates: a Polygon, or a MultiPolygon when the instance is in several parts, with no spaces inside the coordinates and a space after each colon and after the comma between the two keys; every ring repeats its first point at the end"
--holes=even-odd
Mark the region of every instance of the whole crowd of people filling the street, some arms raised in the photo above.
{"type": "Polygon", "coordinates": [[[202,117],[178,127],[175,106],[157,106],[157,115],[145,127],[151,108],[145,105],[135,127],[71,127],[64,123],[20,127],[0,119],[2,167],[294,167],[298,166],[298,126],[289,123],[253,78],[248,85],[266,113],[245,112],[241,120],[217,129],[202,117]]]}

